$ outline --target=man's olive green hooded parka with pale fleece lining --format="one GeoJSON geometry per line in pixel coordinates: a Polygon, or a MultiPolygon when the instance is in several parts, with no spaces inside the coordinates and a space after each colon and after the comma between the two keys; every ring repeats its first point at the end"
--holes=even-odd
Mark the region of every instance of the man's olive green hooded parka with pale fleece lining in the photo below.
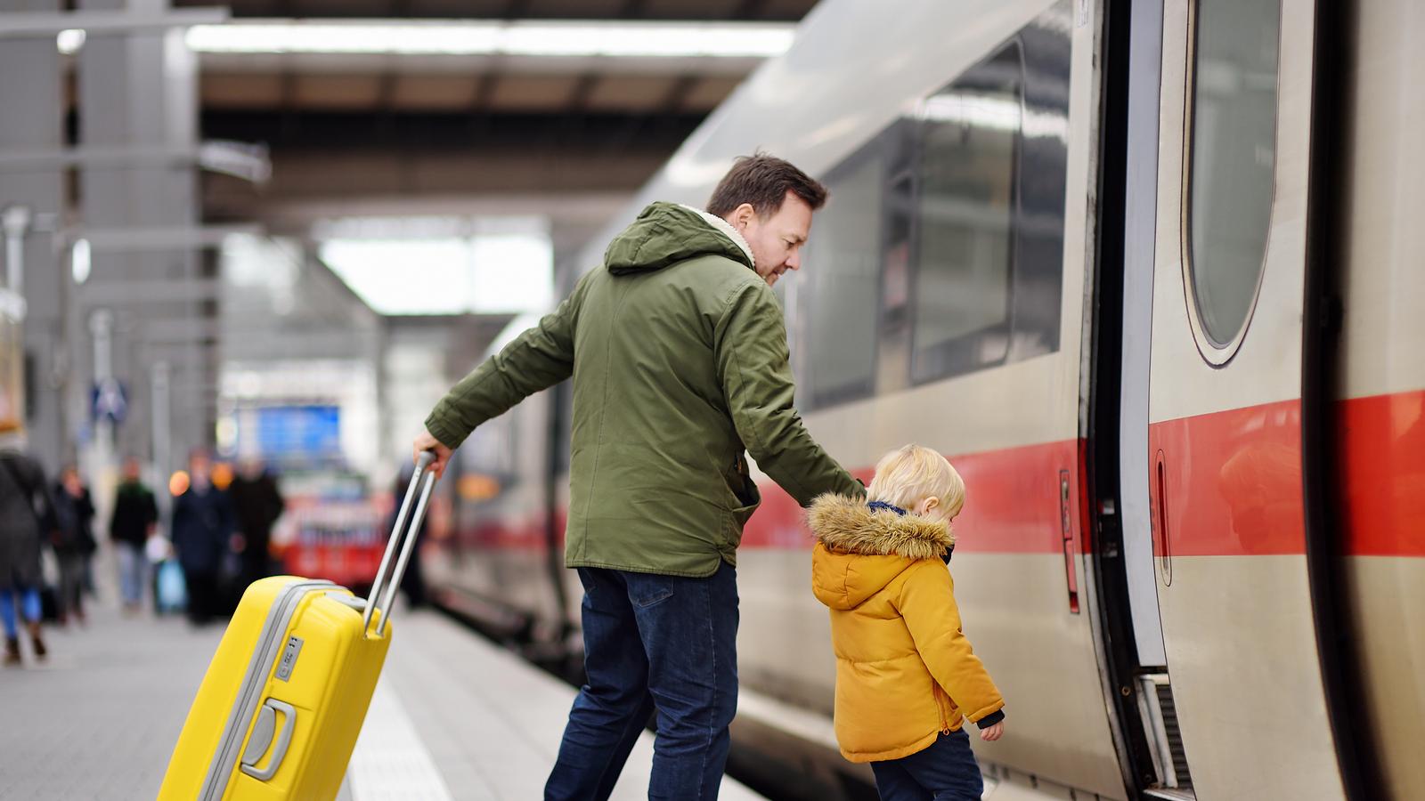
{"type": "Polygon", "coordinates": [[[724,221],[646,208],[573,294],[460,381],[426,419],[456,448],[574,379],[564,562],[673,576],[737,564],[760,502],[744,449],[802,506],[862,495],[792,406],[781,306],[724,221]]]}

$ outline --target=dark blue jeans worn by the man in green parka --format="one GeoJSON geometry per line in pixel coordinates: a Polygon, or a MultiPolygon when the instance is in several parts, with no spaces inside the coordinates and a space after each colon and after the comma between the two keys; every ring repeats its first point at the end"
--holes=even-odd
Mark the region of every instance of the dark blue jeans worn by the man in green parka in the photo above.
{"type": "Polygon", "coordinates": [[[657,710],[648,798],[711,801],[737,713],[737,570],[707,579],[580,567],[584,673],[547,801],[603,801],[657,710]]]}

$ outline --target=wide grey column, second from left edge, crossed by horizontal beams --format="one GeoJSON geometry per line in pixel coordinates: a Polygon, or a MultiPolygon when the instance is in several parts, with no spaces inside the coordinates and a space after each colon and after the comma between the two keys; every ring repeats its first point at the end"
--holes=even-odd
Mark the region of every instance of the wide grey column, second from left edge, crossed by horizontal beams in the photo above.
{"type": "MultiPolygon", "coordinates": [[[[161,16],[164,0],[80,0],[81,11],[161,16]]],[[[84,148],[157,148],[187,151],[198,144],[197,58],[184,46],[182,29],[138,29],[90,37],[78,54],[80,144],[84,148]]],[[[127,165],[86,164],[80,170],[80,217],[86,229],[184,231],[198,225],[201,195],[191,162],[142,161],[127,165]]],[[[147,329],[155,318],[200,321],[214,314],[211,302],[105,302],[104,286],[124,284],[185,285],[200,281],[202,259],[194,248],[171,245],[101,248],[94,242],[93,278],[77,314],[110,308],[113,371],[130,392],[134,413],[115,430],[115,453],[142,453],[152,446],[154,465],[175,465],[181,453],[204,445],[212,432],[211,385],[215,355],[200,338],[154,342],[147,329]],[[167,436],[154,436],[148,413],[154,385],[150,365],[165,361],[167,436]],[[177,452],[175,452],[177,450],[177,452]]],[[[98,368],[98,365],[95,365],[98,368]]],[[[94,378],[98,378],[97,371],[94,378]]],[[[110,463],[111,469],[113,463],[110,463]]]]}

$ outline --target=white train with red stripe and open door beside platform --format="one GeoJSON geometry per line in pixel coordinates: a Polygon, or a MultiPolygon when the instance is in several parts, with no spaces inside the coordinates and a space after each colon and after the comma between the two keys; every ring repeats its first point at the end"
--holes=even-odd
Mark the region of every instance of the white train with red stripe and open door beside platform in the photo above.
{"type": "MultiPolygon", "coordinates": [[[[825,0],[579,268],[738,155],[826,184],[775,285],[798,409],[859,477],[908,442],[963,475],[990,787],[1418,798],[1422,36],[1405,0],[825,0]]],[[[556,388],[475,432],[426,572],[577,657],[567,420],[556,388]]],[[[734,741],[855,797],[812,540],[754,473],[734,741]]]]}

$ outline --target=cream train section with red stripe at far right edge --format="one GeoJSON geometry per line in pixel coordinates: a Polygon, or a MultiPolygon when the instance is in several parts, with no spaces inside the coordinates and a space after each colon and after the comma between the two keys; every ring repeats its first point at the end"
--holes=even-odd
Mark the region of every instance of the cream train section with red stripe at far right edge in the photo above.
{"type": "Polygon", "coordinates": [[[1340,248],[1325,252],[1338,257],[1327,281],[1342,314],[1340,341],[1322,343],[1334,453],[1318,473],[1335,500],[1327,524],[1344,534],[1331,543],[1344,557],[1337,626],[1354,651],[1342,694],[1358,750],[1355,765],[1342,761],[1359,771],[1359,798],[1406,800],[1425,788],[1425,6],[1338,14],[1328,30],[1348,37],[1337,117],[1348,147],[1337,151],[1340,248]]]}

